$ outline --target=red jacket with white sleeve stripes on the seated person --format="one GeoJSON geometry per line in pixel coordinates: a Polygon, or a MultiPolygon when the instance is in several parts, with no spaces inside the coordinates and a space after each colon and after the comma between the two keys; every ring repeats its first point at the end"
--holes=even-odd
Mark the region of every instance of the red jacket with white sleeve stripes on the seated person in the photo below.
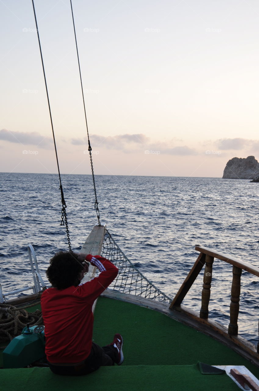
{"type": "Polygon", "coordinates": [[[53,364],[73,364],[88,357],[93,336],[92,305],[118,274],[117,267],[102,256],[88,255],[86,260],[101,271],[98,277],[77,287],[49,288],[41,295],[45,353],[53,364]]]}

